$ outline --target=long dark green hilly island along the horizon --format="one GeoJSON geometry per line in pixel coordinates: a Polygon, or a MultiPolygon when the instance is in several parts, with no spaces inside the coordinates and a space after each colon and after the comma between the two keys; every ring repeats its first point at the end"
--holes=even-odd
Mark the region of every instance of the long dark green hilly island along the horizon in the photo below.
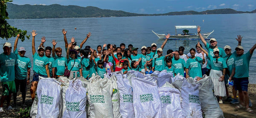
{"type": "Polygon", "coordinates": [[[17,5],[7,3],[7,12],[11,19],[39,19],[39,18],[71,18],[71,17],[129,17],[129,16],[163,16],[163,15],[193,15],[193,14],[242,14],[256,13],[236,11],[234,9],[215,9],[203,12],[184,11],[169,12],[165,14],[136,14],[124,11],[99,9],[98,7],[87,6],[62,6],[59,4],[44,5],[17,5]]]}

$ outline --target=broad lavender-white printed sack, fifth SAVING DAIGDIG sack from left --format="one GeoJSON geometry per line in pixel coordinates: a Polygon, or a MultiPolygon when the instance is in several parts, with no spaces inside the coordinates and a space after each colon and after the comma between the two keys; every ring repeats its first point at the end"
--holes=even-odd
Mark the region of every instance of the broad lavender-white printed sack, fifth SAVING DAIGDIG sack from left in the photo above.
{"type": "Polygon", "coordinates": [[[157,83],[131,78],[135,118],[161,118],[161,101],[157,83]]]}

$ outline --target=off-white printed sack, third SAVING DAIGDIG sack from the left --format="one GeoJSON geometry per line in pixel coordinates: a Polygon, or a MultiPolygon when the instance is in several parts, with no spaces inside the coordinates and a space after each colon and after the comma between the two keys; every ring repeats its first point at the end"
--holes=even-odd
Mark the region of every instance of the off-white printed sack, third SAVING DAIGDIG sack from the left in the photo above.
{"type": "Polygon", "coordinates": [[[113,118],[112,82],[98,75],[90,78],[88,86],[88,102],[90,104],[89,118],[113,118]]]}

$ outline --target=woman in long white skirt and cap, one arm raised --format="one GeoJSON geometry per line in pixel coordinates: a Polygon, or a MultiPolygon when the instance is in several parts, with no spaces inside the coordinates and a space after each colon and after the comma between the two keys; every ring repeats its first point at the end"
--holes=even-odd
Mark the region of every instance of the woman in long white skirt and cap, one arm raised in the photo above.
{"type": "Polygon", "coordinates": [[[227,68],[227,63],[224,60],[224,58],[219,57],[219,49],[215,48],[213,49],[214,53],[214,58],[209,55],[209,53],[204,50],[201,46],[200,43],[198,42],[198,46],[200,49],[206,54],[208,57],[211,65],[211,71],[209,76],[212,79],[212,83],[214,84],[214,93],[216,96],[219,96],[219,104],[222,104],[222,97],[226,96],[226,89],[225,89],[225,82],[224,82],[224,77],[226,74],[226,68],[227,68]]]}

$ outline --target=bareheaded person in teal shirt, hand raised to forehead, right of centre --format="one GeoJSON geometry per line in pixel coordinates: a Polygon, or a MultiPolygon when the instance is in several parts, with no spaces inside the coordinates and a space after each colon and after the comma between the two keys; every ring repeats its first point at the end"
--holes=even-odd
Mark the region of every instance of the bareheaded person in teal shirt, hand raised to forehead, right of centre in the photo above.
{"type": "Polygon", "coordinates": [[[172,66],[175,67],[177,74],[180,73],[181,76],[185,76],[184,75],[184,70],[186,69],[185,60],[180,58],[179,52],[175,51],[172,53],[174,54],[174,58],[172,58],[172,66]]]}

